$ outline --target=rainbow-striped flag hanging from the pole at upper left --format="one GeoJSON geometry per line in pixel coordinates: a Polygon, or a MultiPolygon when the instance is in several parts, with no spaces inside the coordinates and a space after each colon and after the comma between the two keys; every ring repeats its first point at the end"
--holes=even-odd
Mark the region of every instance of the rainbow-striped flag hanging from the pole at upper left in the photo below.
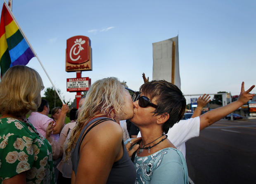
{"type": "Polygon", "coordinates": [[[0,21],[1,77],[8,68],[14,65],[26,65],[32,57],[35,55],[4,3],[0,21]]]}

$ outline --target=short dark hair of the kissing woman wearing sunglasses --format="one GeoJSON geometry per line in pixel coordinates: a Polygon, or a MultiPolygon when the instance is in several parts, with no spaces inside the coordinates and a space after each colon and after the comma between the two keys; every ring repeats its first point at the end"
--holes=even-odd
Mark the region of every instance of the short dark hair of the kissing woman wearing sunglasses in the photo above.
{"type": "Polygon", "coordinates": [[[169,119],[162,125],[166,134],[173,125],[181,120],[186,109],[186,99],[180,89],[166,80],[152,80],[140,87],[140,92],[150,100],[155,98],[157,108],[152,113],[169,114],[169,119]]]}

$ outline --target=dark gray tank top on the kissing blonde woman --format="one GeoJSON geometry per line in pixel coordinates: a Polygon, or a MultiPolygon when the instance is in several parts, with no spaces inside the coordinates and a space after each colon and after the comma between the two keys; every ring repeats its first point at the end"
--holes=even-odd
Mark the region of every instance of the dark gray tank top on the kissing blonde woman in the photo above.
{"type": "MultiPolygon", "coordinates": [[[[99,121],[99,123],[102,123],[106,119],[109,120],[109,118],[106,118],[106,117],[95,118],[93,120],[90,120],[87,123],[87,125],[85,125],[85,127],[83,128],[76,142],[75,147],[72,148],[72,151],[71,151],[72,169],[75,172],[75,175],[76,175],[77,167],[79,163],[79,149],[80,149],[80,144],[83,141],[83,138],[82,138],[83,133],[88,128],[88,126],[90,126],[92,123],[96,121],[99,121]]],[[[91,128],[92,127],[90,127],[90,129],[91,128]]],[[[90,129],[87,130],[87,132],[85,132],[85,135],[90,131],[90,129]]],[[[85,137],[85,135],[83,137],[85,137]]],[[[123,144],[123,141],[122,141],[122,144],[123,144]]],[[[126,148],[123,144],[123,156],[120,160],[116,161],[113,164],[111,171],[109,173],[109,177],[107,179],[107,184],[134,184],[135,180],[136,180],[135,166],[133,165],[133,162],[130,160],[130,157],[128,156],[128,152],[126,151],[126,148]]]]}

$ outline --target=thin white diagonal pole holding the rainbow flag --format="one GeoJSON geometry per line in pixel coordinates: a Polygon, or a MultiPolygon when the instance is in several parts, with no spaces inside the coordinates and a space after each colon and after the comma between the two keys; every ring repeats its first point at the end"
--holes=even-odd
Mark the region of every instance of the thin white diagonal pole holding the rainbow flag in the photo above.
{"type": "MultiPolygon", "coordinates": [[[[5,0],[4,0],[4,1],[5,1],[5,0]]],[[[9,8],[9,6],[8,6],[8,4],[7,4],[6,1],[5,1],[5,6],[7,7],[8,11],[9,11],[9,13],[11,14],[11,16],[12,16],[13,20],[15,21],[15,23],[17,24],[17,26],[18,26],[18,28],[19,28],[19,31],[20,31],[21,34],[24,36],[24,38],[25,38],[26,42],[28,43],[29,47],[31,48],[32,52],[34,53],[34,55],[35,55],[36,58],[38,59],[40,65],[42,66],[43,70],[45,71],[45,74],[47,75],[48,79],[49,79],[50,82],[52,83],[52,80],[51,80],[50,76],[48,75],[47,71],[45,70],[45,67],[43,66],[43,64],[41,63],[40,59],[38,58],[38,56],[37,56],[35,50],[33,49],[32,45],[31,45],[30,42],[28,41],[28,38],[26,37],[25,33],[22,31],[21,26],[19,26],[19,23],[18,23],[18,21],[16,20],[16,18],[14,17],[14,15],[12,14],[12,11],[10,11],[10,8],[9,8]]],[[[60,96],[59,92],[57,91],[57,89],[56,89],[56,87],[55,87],[55,85],[54,85],[53,83],[52,83],[52,86],[54,87],[56,93],[58,94],[59,99],[62,101],[62,104],[64,104],[64,101],[63,101],[62,97],[60,96]]]]}

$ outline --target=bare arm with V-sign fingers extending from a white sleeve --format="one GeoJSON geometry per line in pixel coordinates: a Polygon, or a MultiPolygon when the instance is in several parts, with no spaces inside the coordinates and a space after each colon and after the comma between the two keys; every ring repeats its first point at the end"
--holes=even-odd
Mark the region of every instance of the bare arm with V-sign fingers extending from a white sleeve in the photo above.
{"type": "Polygon", "coordinates": [[[240,106],[246,104],[250,99],[254,97],[255,94],[249,94],[251,90],[255,87],[252,85],[249,90],[244,91],[244,82],[242,82],[241,93],[237,101],[234,101],[226,106],[213,109],[207,113],[202,114],[200,117],[200,130],[212,125],[216,121],[224,118],[228,114],[237,110],[240,106]]]}

